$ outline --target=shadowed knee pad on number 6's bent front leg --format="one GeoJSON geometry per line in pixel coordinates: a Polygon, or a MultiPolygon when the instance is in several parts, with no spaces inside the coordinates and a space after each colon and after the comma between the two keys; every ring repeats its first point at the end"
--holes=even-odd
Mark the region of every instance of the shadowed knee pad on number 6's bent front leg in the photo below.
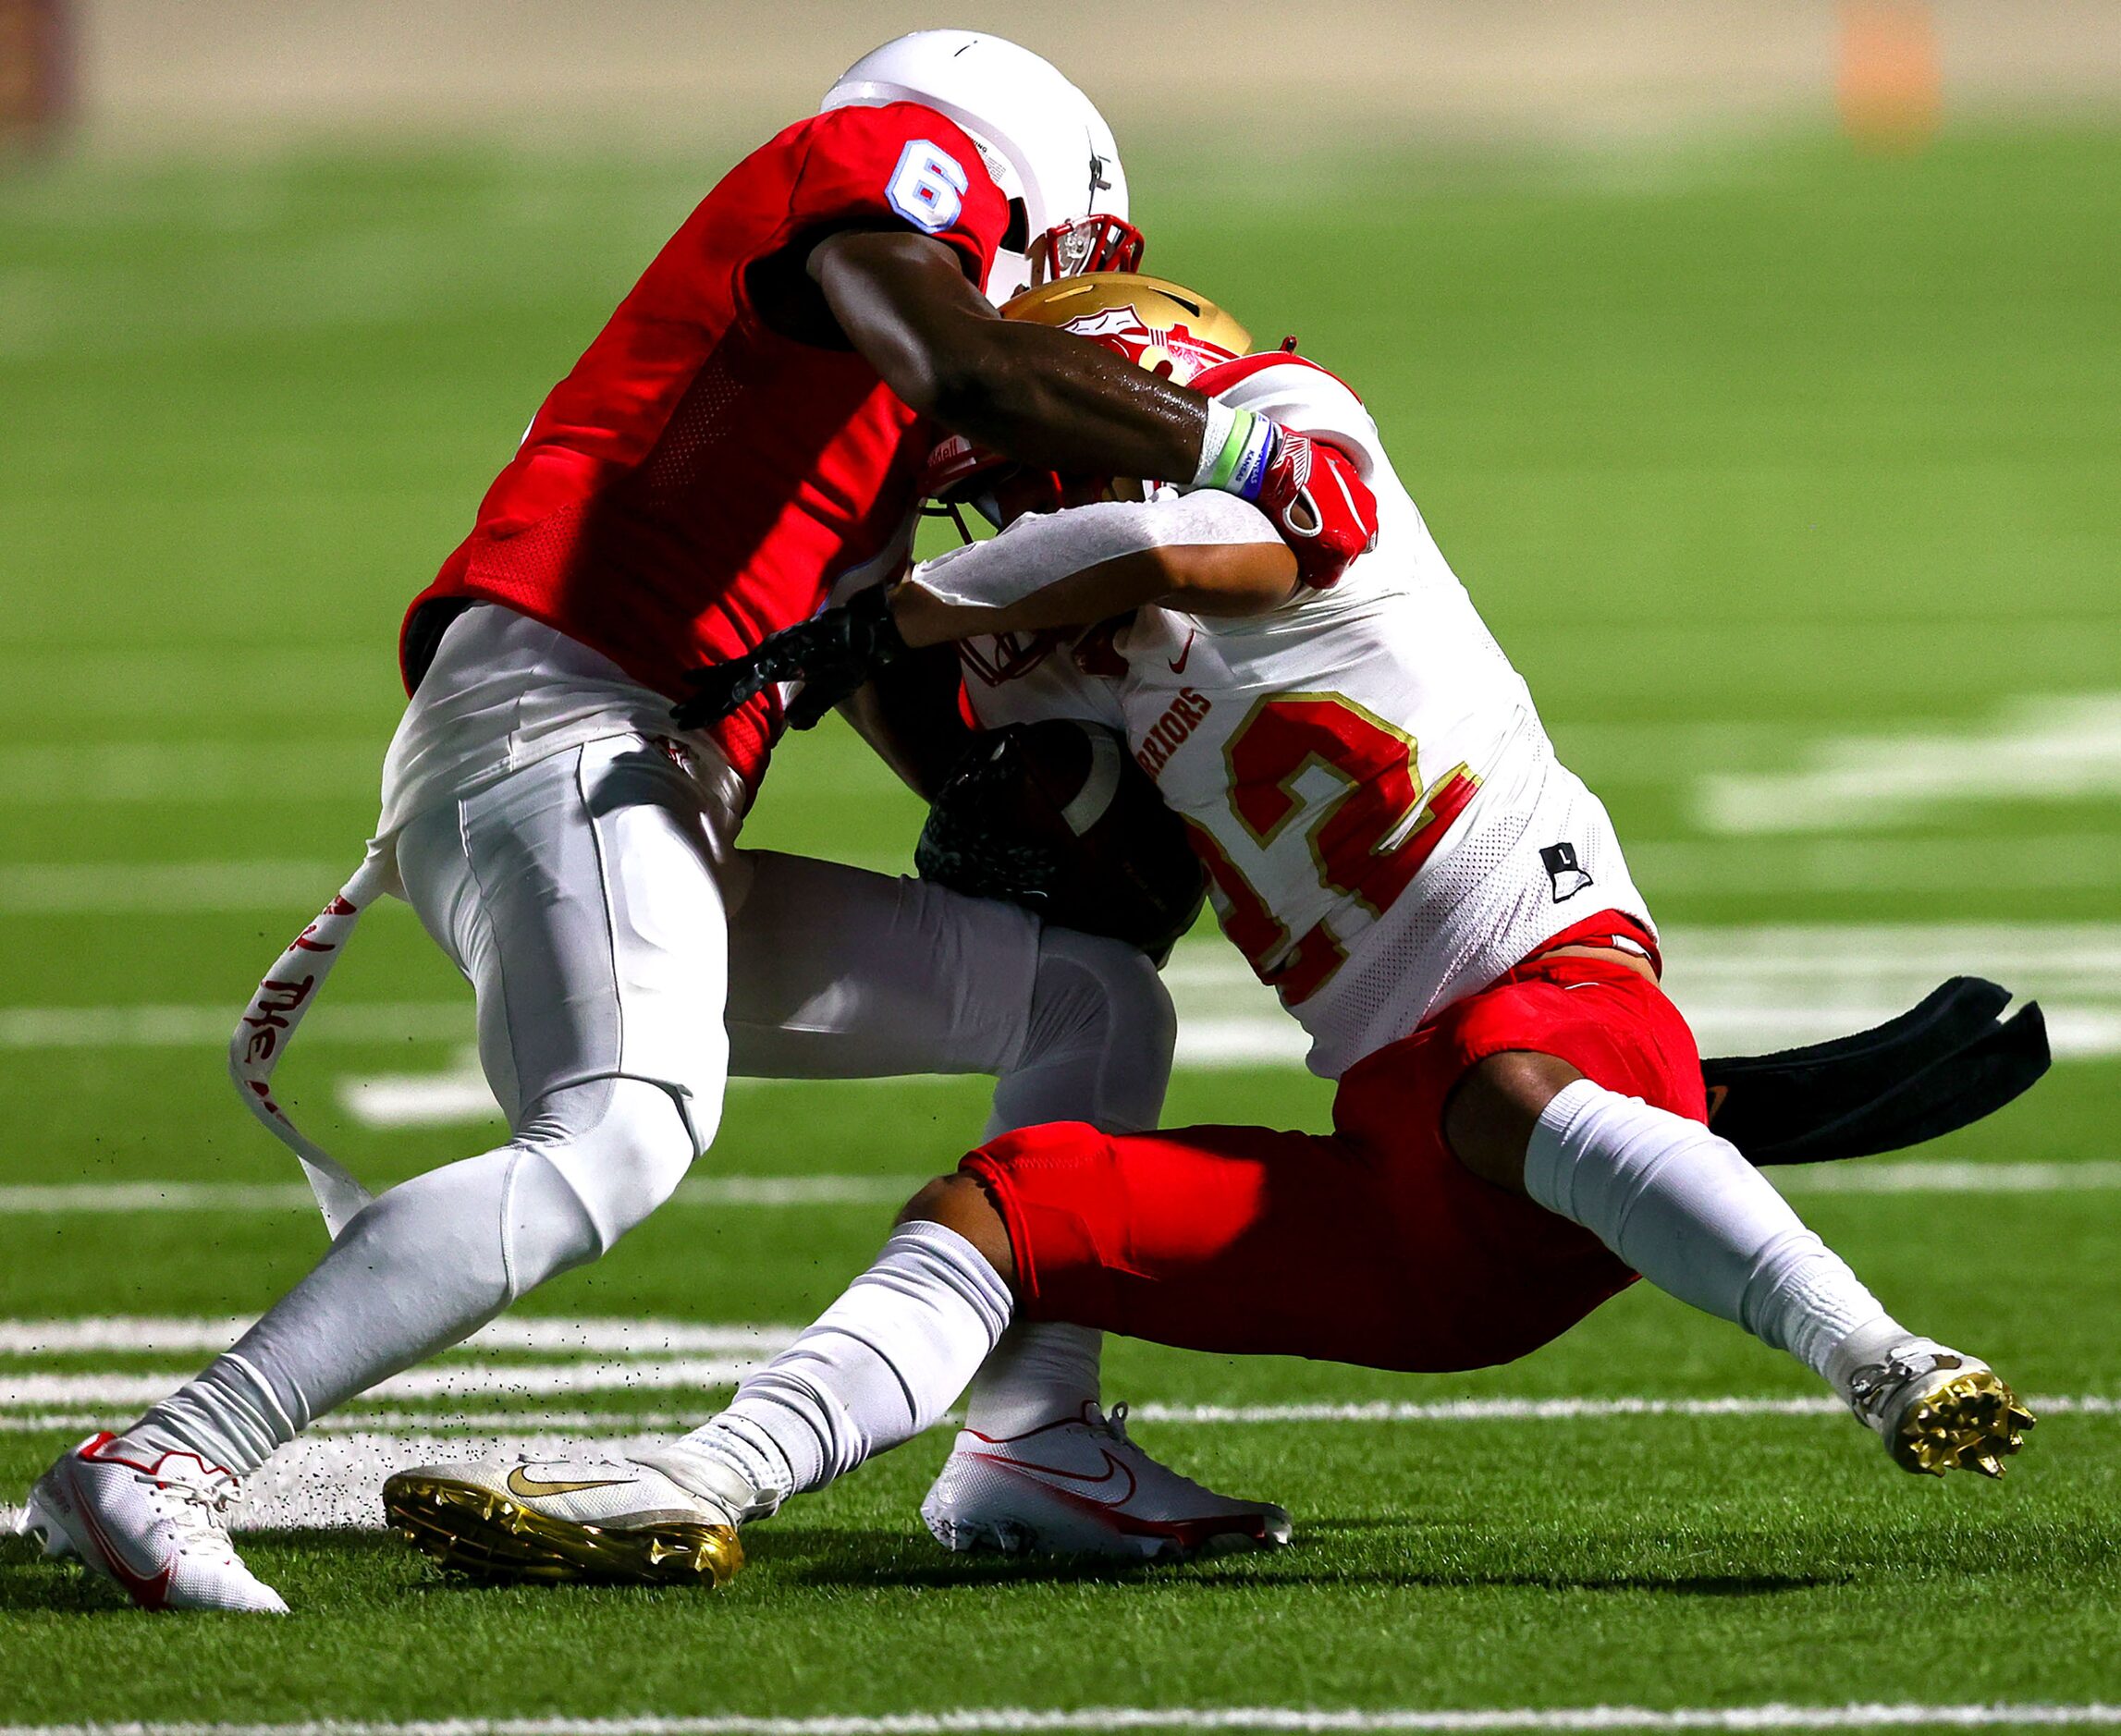
{"type": "Polygon", "coordinates": [[[1020,1070],[1073,1070],[1086,1081],[1082,1092],[1071,1094],[1077,1100],[1056,1104],[1039,1119],[1065,1115],[1107,1132],[1154,1128],[1175,1043],[1171,994],[1143,952],[1073,928],[1039,935],[1020,1070]]]}

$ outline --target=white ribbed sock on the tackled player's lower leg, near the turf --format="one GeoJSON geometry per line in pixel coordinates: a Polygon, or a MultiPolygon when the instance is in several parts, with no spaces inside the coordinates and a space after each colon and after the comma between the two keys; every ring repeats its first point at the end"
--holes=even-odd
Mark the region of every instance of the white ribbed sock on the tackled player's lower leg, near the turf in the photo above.
{"type": "Polygon", "coordinates": [[[689,1456],[732,1467],[759,1492],[759,1511],[772,1511],[935,1422],[1014,1306],[1001,1274],[954,1229],[901,1223],[817,1325],[658,1465],[679,1480],[689,1456]]]}

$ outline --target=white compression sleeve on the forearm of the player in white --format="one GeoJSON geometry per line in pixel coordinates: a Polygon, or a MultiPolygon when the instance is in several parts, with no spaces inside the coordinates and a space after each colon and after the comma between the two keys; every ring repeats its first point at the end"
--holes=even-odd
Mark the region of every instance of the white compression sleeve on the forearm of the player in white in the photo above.
{"type": "Polygon", "coordinates": [[[1007,608],[1060,579],[1143,549],[1279,541],[1266,515],[1234,494],[1099,500],[1065,513],[1024,513],[999,536],[921,562],[910,583],[942,602],[1007,608]]]}

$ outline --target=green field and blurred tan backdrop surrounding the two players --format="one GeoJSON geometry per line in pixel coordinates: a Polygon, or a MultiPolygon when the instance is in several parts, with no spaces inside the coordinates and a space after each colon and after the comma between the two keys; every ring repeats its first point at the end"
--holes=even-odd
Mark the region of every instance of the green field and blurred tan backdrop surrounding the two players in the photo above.
{"type": "MultiPolygon", "coordinates": [[[[464,1412],[698,1414],[982,1104],[740,1085],[668,1212],[259,1488],[303,1622],[233,1653],[0,1549],[0,1721],[2115,1700],[2113,0],[0,0],[0,1509],[316,1253],[216,1051],[373,818],[405,598],[715,176],[942,21],[1105,106],[1152,269],[1368,396],[1707,1045],[1958,969],[2043,998],[2028,1102],[1790,1185],[2047,1424],[2002,1488],[1888,1482],[1780,1361],[1631,1293],[1436,1382],[1116,1346],[1154,1446],[1298,1509],[1264,1566],[942,1562],[927,1441],[761,1530],[713,1609],[414,1596],[318,1535],[464,1412]]],[[[827,727],[747,842],[899,869],[916,827],[827,727]]],[[[1171,1119],[1317,1121],[1234,954],[1171,975],[1171,1119]]],[[[481,1138],[467,1043],[386,911],[282,1079],[388,1181],[481,1138]]]]}

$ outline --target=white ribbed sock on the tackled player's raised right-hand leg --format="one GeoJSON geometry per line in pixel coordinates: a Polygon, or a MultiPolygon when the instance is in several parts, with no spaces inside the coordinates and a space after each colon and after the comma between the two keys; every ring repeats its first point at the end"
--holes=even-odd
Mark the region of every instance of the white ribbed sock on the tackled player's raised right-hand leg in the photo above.
{"type": "Polygon", "coordinates": [[[1731,1140],[1642,1098],[1589,1079],[1557,1092],[1525,1149],[1525,1191],[1822,1378],[1850,1333],[1900,1331],[1731,1140]]]}

